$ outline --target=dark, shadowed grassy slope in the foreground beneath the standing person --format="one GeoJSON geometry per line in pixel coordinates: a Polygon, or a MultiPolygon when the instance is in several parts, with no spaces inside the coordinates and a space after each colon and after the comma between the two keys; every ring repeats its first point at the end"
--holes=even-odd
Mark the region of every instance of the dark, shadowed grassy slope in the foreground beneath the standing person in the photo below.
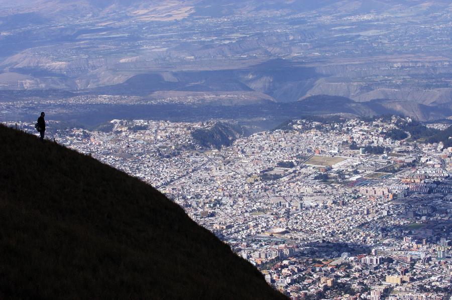
{"type": "Polygon", "coordinates": [[[0,125],[1,299],[284,299],[151,186],[0,125]]]}

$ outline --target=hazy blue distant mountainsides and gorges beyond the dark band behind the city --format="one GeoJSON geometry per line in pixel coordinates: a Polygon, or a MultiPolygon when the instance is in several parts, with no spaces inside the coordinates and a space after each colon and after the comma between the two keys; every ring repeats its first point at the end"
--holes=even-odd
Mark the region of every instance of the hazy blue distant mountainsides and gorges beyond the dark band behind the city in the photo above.
{"type": "Polygon", "coordinates": [[[332,95],[425,113],[452,99],[451,13],[444,0],[0,0],[0,90],[332,95]]]}

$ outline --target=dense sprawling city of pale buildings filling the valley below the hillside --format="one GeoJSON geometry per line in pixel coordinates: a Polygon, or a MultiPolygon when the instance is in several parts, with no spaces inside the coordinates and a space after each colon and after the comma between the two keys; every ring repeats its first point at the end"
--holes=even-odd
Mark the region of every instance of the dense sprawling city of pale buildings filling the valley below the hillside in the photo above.
{"type": "Polygon", "coordinates": [[[314,117],[221,147],[196,134],[215,122],[48,126],[55,142],[158,188],[295,299],[450,296],[452,147],[421,137],[447,123],[314,117]]]}

